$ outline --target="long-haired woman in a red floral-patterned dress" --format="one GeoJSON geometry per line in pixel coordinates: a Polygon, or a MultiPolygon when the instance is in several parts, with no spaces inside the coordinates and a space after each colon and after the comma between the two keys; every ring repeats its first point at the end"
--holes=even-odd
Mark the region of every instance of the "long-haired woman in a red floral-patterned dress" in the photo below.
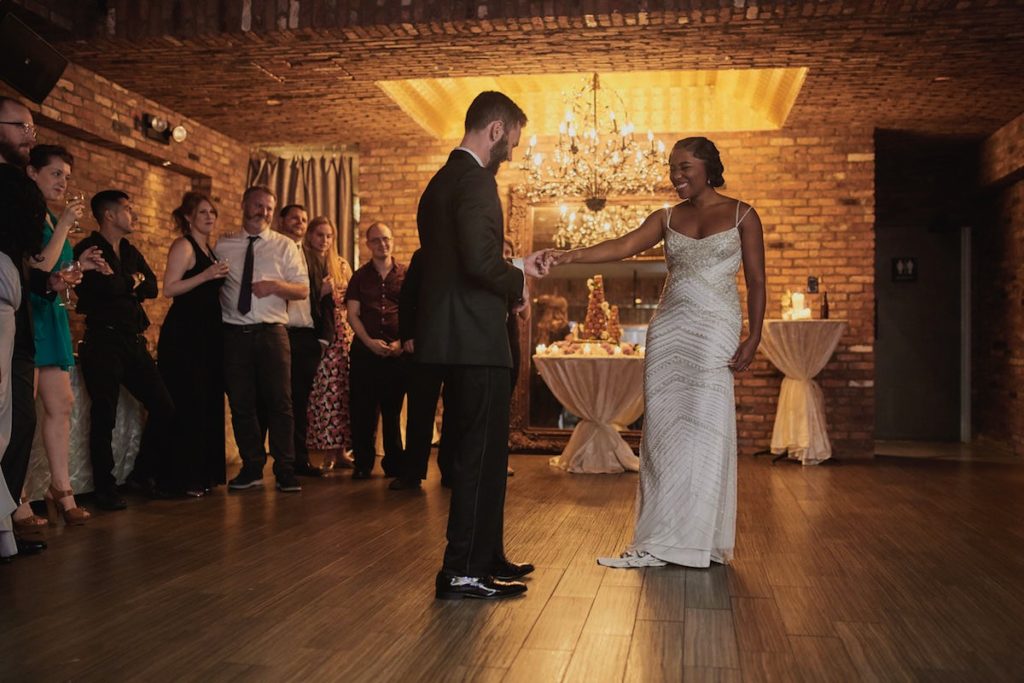
{"type": "Polygon", "coordinates": [[[345,452],[352,436],[348,416],[348,347],[352,330],[345,315],[345,288],[352,268],[335,249],[337,234],[327,216],[313,218],[302,241],[309,281],[313,322],[327,349],[321,358],[309,393],[306,446],[324,454],[324,471],[335,465],[351,467],[345,452]]]}

